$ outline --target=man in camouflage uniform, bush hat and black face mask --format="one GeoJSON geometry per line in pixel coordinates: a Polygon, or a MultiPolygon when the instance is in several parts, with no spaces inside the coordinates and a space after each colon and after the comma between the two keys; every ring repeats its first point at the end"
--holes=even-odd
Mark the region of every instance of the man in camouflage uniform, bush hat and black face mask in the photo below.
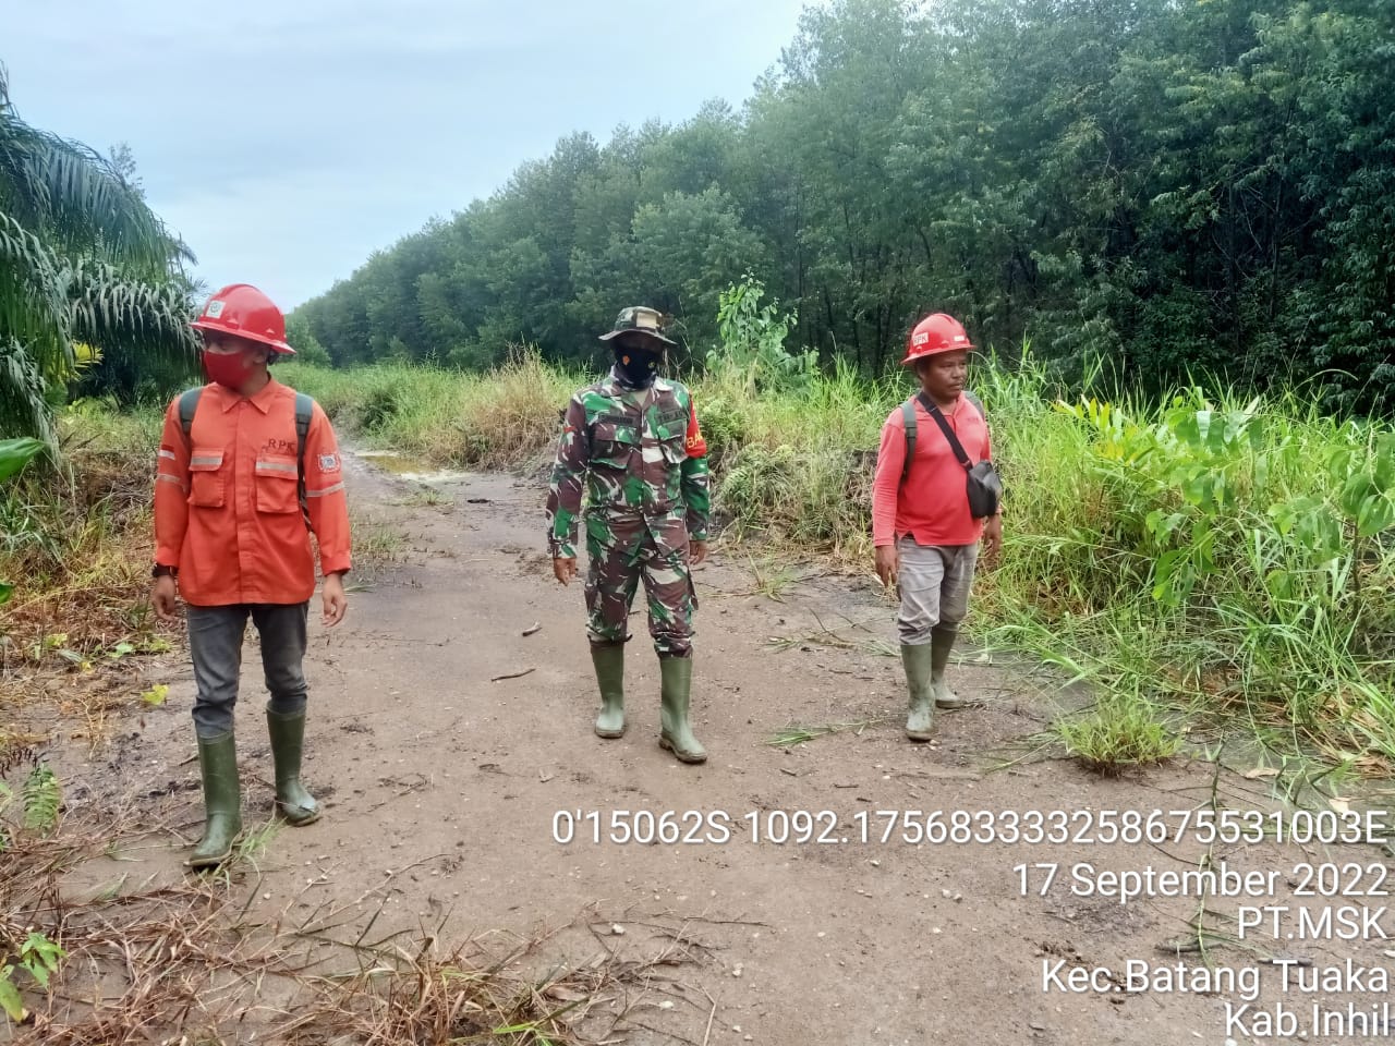
{"type": "Polygon", "coordinates": [[[707,759],[688,725],[692,563],[707,556],[707,445],[692,393],[658,377],[668,346],[653,308],[621,311],[601,335],[615,351],[610,375],[572,396],[547,495],[552,573],[576,576],[576,524],[587,490],[586,632],[601,692],[596,734],[625,732],[625,643],[639,582],[661,675],[658,743],[684,763],[707,759]]]}

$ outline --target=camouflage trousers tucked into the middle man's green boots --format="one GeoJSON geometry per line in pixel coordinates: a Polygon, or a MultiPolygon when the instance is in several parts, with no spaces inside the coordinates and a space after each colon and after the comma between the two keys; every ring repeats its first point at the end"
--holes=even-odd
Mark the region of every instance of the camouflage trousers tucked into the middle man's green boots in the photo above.
{"type": "Polygon", "coordinates": [[[629,639],[629,608],[640,580],[649,601],[649,635],[660,657],[692,654],[698,596],[688,569],[682,519],[586,520],[586,633],[593,643],[629,639]]]}

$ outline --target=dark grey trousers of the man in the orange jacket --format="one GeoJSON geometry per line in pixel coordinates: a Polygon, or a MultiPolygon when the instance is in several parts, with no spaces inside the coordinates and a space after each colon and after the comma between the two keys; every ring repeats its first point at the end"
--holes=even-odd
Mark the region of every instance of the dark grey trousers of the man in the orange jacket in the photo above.
{"type": "Polygon", "coordinates": [[[216,738],[233,728],[248,615],[261,636],[262,671],[271,693],[266,707],[278,715],[299,715],[306,710],[301,664],[310,602],[187,607],[188,649],[198,683],[194,732],[201,738],[216,738]]]}

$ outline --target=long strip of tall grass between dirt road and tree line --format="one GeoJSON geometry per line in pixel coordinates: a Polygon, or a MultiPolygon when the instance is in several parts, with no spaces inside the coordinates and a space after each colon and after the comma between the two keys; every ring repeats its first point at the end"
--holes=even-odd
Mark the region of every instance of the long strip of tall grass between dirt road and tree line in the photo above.
{"type": "MultiPolygon", "coordinates": [[[[488,375],[296,364],[282,377],[359,439],[477,467],[544,457],[590,379],[526,353],[488,375]]],[[[1300,392],[1060,402],[1025,346],[971,385],[1009,495],[1006,554],[976,579],[970,623],[1103,696],[1085,725],[1062,721],[1063,743],[1126,766],[1175,750],[1179,722],[1223,720],[1334,761],[1395,763],[1388,425],[1324,417],[1300,392]]],[[[771,541],[869,569],[879,434],[910,378],[693,389],[728,548],[771,541]]]]}

